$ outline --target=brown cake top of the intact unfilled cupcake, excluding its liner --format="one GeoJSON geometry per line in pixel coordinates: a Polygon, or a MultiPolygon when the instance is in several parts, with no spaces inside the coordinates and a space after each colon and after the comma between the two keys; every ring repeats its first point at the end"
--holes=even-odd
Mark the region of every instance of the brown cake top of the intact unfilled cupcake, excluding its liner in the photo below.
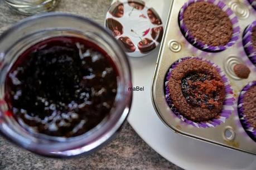
{"type": "Polygon", "coordinates": [[[190,35],[205,45],[225,46],[233,35],[233,26],[221,8],[209,2],[190,4],[183,21],[190,35]]]}

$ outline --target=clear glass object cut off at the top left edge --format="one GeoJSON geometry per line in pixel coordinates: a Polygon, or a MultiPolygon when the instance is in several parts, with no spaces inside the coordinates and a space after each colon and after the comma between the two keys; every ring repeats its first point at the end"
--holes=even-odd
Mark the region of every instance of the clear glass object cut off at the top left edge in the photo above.
{"type": "Polygon", "coordinates": [[[4,0],[14,11],[32,15],[54,9],[60,0],[4,0]]]}

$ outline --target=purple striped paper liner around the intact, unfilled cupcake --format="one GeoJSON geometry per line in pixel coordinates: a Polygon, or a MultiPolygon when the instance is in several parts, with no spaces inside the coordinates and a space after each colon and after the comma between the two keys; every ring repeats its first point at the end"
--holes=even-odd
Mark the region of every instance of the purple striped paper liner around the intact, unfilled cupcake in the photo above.
{"type": "Polygon", "coordinates": [[[239,40],[239,35],[240,35],[240,27],[238,23],[238,17],[233,13],[233,11],[222,1],[219,0],[189,0],[186,2],[179,13],[178,16],[179,22],[180,22],[180,29],[187,41],[189,41],[193,46],[199,48],[200,50],[207,51],[207,52],[219,52],[223,51],[228,47],[231,47],[235,44],[237,40],[239,40]],[[226,14],[228,14],[229,19],[233,25],[233,35],[230,39],[230,41],[225,45],[225,46],[211,46],[204,44],[203,42],[197,40],[194,36],[190,35],[190,31],[187,29],[185,23],[183,22],[183,14],[188,6],[190,4],[195,3],[195,2],[209,2],[212,4],[215,4],[219,8],[221,8],[226,14]]]}

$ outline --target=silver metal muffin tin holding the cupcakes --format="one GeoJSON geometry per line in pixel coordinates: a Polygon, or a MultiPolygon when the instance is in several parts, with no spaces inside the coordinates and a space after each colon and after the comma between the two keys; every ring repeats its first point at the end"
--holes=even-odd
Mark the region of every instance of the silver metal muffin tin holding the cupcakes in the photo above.
{"type": "MultiPolygon", "coordinates": [[[[205,0],[206,1],[206,0],[205,0]]],[[[217,4],[219,0],[209,0],[217,4]]],[[[233,17],[237,18],[237,26],[240,27],[238,40],[233,45],[219,52],[207,52],[191,45],[183,36],[179,25],[179,13],[185,3],[191,0],[173,0],[167,21],[167,27],[163,36],[160,54],[154,73],[152,84],[152,100],[154,108],[163,123],[176,133],[186,135],[205,142],[218,144],[224,147],[256,154],[256,141],[249,137],[238,115],[238,98],[241,90],[256,80],[256,66],[249,60],[243,47],[243,32],[248,25],[256,20],[256,11],[247,0],[223,0],[227,9],[232,9],[233,17]],[[181,120],[168,105],[166,100],[166,76],[171,65],[184,57],[200,57],[220,67],[225,77],[228,78],[233,90],[233,105],[229,106],[231,115],[222,123],[210,127],[196,127],[181,120]],[[236,64],[245,64],[251,73],[248,79],[240,79],[233,71],[236,64]]],[[[171,92],[170,92],[171,93],[171,92]]]]}

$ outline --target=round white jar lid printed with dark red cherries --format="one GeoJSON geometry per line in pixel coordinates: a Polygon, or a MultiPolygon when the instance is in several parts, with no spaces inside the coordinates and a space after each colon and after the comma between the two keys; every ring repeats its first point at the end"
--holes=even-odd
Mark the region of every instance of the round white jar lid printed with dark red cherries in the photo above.
{"type": "Polygon", "coordinates": [[[160,16],[142,0],[114,1],[105,20],[107,27],[131,57],[152,52],[162,41],[160,16]]]}

